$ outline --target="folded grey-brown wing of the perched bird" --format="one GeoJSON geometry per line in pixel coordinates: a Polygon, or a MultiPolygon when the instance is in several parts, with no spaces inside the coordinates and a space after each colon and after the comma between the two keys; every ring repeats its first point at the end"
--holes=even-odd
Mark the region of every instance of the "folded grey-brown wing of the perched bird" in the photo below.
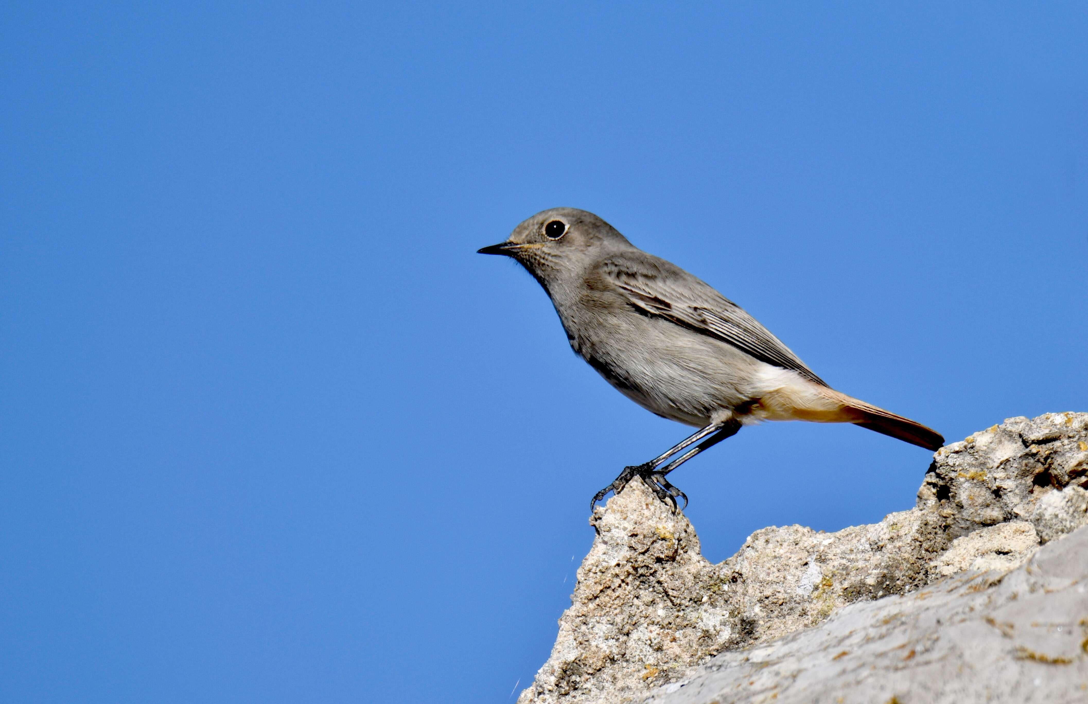
{"type": "Polygon", "coordinates": [[[643,312],[726,342],[756,359],[792,369],[827,386],[789,347],[744,309],[664,259],[625,252],[602,260],[595,273],[643,312]]]}

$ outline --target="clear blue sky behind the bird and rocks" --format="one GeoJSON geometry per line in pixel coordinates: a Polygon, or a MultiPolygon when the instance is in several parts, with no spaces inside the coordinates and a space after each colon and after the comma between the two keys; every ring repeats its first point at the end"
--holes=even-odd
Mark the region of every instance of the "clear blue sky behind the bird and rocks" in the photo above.
{"type": "MultiPolygon", "coordinates": [[[[475,249],[593,210],[950,440],[1088,410],[1084,3],[5,3],[0,700],[509,702],[688,429],[475,249]]],[[[912,506],[745,429],[705,554],[912,506]]]]}

